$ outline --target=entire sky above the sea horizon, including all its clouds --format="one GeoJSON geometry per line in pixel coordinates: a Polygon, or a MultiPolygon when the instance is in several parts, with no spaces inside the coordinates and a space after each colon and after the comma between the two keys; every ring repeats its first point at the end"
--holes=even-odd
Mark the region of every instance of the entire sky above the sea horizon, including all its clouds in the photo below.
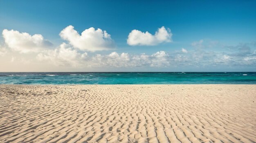
{"type": "Polygon", "coordinates": [[[0,72],[256,72],[255,0],[0,0],[0,72]]]}

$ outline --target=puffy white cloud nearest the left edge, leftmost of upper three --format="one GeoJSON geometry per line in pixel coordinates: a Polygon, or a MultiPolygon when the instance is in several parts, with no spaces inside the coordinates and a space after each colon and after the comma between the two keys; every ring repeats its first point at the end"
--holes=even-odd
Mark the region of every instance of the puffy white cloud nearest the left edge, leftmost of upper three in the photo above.
{"type": "Polygon", "coordinates": [[[52,46],[52,43],[45,40],[40,34],[31,36],[26,32],[20,33],[16,30],[4,29],[2,35],[6,45],[8,45],[11,50],[20,53],[39,52],[40,50],[52,46]]]}

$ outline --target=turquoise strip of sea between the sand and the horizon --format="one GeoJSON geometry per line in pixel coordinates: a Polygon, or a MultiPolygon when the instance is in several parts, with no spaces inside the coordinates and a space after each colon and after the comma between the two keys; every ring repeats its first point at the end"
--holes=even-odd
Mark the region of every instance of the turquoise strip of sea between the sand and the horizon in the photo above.
{"type": "Polygon", "coordinates": [[[0,84],[256,84],[256,72],[0,72],[0,84]]]}

